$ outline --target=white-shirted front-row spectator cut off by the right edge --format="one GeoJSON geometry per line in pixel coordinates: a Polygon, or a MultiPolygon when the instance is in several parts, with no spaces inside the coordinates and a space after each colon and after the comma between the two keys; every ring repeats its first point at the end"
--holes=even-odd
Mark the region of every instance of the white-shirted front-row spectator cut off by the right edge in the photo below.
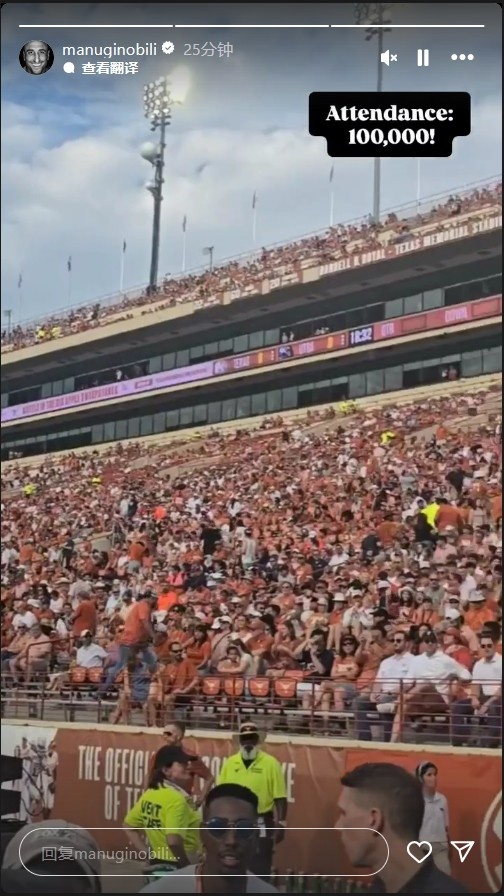
{"type": "Polygon", "coordinates": [[[483,724],[481,746],[500,747],[502,743],[502,656],[497,653],[498,637],[485,629],[480,635],[481,659],[474,664],[471,696],[457,700],[452,710],[453,743],[467,743],[474,715],[483,724]]]}

